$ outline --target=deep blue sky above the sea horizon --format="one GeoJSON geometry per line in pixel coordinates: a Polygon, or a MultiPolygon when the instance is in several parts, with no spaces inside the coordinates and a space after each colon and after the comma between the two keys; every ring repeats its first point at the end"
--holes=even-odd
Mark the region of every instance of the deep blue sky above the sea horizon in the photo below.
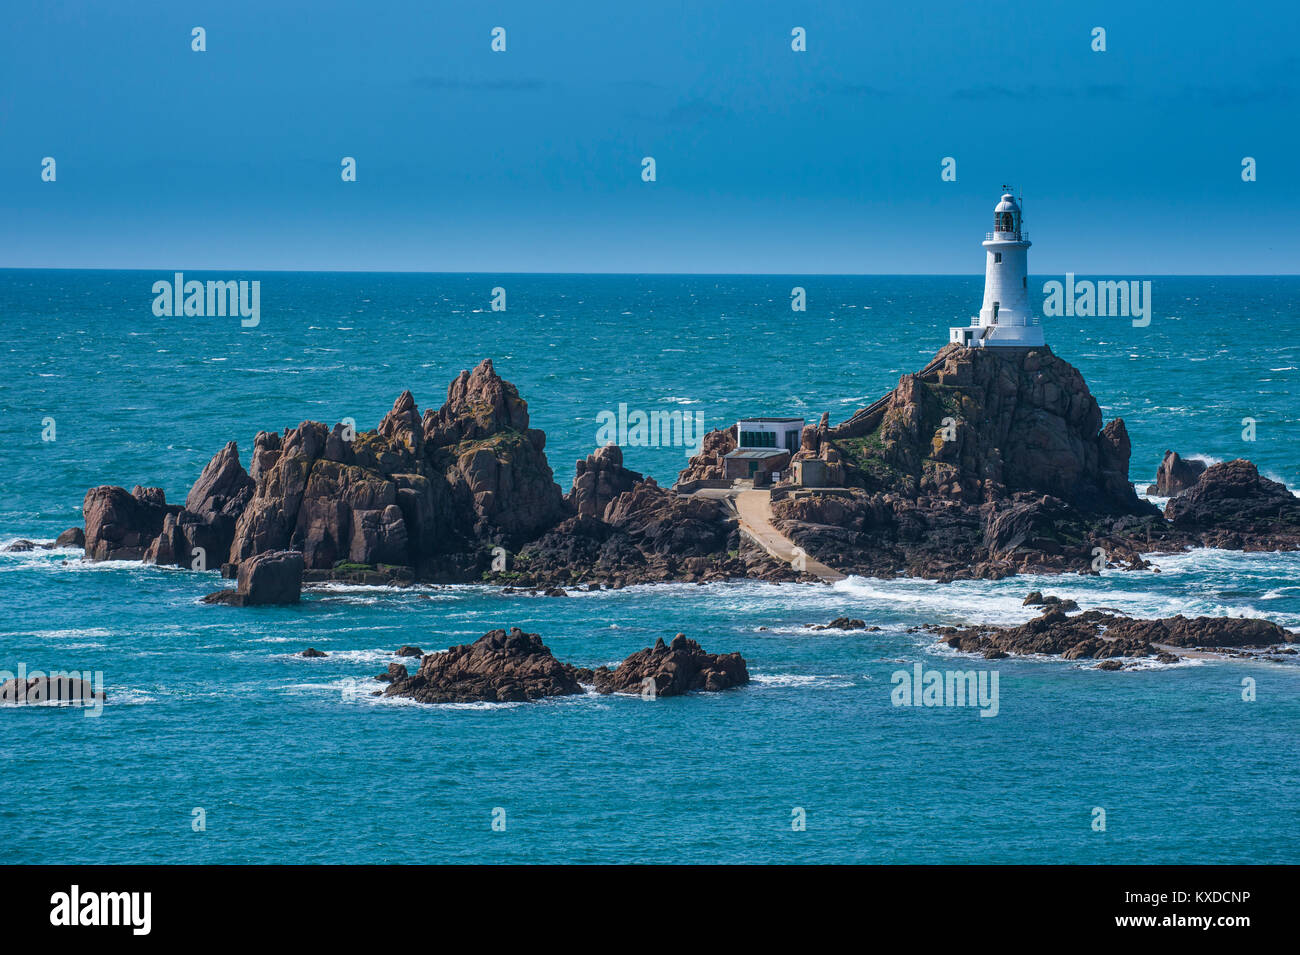
{"type": "Polygon", "coordinates": [[[5,0],[0,266],[979,273],[1010,182],[1034,273],[1295,273],[1297,35],[1271,1],[5,0]]]}

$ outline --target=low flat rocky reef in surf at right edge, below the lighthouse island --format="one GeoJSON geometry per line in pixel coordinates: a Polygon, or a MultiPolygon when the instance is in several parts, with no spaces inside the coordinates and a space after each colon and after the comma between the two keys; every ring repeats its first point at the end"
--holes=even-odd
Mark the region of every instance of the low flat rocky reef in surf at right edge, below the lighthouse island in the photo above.
{"type": "Polygon", "coordinates": [[[1136,620],[1101,611],[1069,616],[1049,607],[1019,626],[928,626],[949,647],[997,659],[1009,654],[1058,655],[1066,660],[1156,657],[1174,663],[1167,647],[1221,650],[1265,648],[1290,643],[1295,635],[1268,620],[1251,617],[1169,617],[1136,620]]]}

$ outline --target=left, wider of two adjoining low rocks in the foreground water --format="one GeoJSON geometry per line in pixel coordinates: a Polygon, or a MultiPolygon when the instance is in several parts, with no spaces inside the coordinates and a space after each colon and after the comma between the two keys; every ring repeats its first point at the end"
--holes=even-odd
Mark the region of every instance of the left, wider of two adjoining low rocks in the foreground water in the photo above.
{"type": "Polygon", "coordinates": [[[517,702],[582,693],[575,670],[556,660],[536,633],[493,630],[473,643],[429,654],[385,696],[420,703],[517,702]]]}

